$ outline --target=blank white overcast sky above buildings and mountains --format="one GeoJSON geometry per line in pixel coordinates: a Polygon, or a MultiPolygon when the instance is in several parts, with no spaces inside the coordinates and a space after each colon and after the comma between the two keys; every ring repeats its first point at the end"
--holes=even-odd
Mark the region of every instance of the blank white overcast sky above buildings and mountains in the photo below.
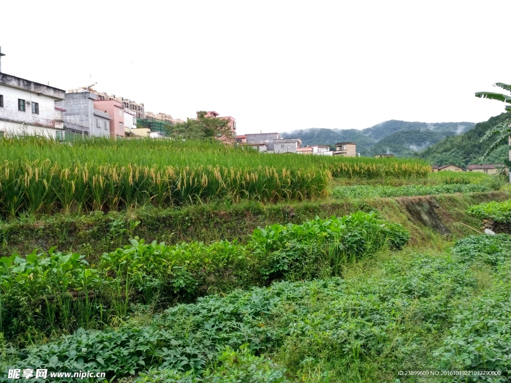
{"type": "Polygon", "coordinates": [[[511,81],[509,1],[4,3],[4,73],[174,118],[214,110],[238,134],[481,122],[504,104],[474,92],[511,81]]]}

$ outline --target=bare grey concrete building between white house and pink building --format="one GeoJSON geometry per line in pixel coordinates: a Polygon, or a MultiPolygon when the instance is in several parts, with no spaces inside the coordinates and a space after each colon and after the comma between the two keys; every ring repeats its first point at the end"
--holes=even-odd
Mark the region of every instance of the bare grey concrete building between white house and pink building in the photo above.
{"type": "Polygon", "coordinates": [[[65,99],[55,105],[65,109],[62,113],[65,131],[71,134],[82,134],[94,137],[110,137],[110,116],[96,110],[94,102],[96,94],[76,89],[76,92],[66,93],[65,99]]]}

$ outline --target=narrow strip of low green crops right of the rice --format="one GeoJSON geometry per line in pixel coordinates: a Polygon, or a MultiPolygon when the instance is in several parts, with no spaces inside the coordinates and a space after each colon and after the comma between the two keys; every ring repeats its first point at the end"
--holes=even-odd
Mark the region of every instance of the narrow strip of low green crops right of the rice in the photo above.
{"type": "Polygon", "coordinates": [[[431,194],[489,192],[498,188],[498,184],[485,183],[447,183],[443,185],[403,185],[403,186],[338,186],[332,189],[334,198],[370,198],[370,197],[413,197],[431,194]]]}

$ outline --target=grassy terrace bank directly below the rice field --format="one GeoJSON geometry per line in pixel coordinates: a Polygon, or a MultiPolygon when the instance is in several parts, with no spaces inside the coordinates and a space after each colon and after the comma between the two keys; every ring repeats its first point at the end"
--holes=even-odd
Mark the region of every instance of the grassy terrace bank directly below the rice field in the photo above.
{"type": "MultiPolygon", "coordinates": [[[[415,197],[432,199],[433,197],[415,197]]],[[[470,229],[459,224],[462,221],[473,227],[479,221],[467,216],[468,206],[487,201],[504,201],[509,198],[505,191],[473,193],[469,195],[442,195],[438,201],[438,213],[444,217],[446,226],[456,235],[467,234],[470,229]]],[[[204,204],[180,209],[138,209],[128,212],[93,213],[87,216],[57,214],[41,220],[16,220],[0,224],[0,255],[13,252],[29,254],[35,248],[76,251],[95,258],[105,251],[123,246],[129,235],[137,235],[147,241],[179,243],[191,241],[216,241],[221,239],[246,241],[247,235],[258,226],[273,223],[302,223],[318,216],[327,218],[333,214],[342,216],[350,212],[380,210],[383,217],[398,222],[412,232],[412,242],[422,243],[427,236],[408,217],[403,207],[407,198],[375,198],[365,201],[322,200],[289,204],[244,203],[234,205],[204,204]],[[130,222],[141,221],[131,232],[130,222]]],[[[408,199],[409,200],[409,199],[408,199]]]]}

